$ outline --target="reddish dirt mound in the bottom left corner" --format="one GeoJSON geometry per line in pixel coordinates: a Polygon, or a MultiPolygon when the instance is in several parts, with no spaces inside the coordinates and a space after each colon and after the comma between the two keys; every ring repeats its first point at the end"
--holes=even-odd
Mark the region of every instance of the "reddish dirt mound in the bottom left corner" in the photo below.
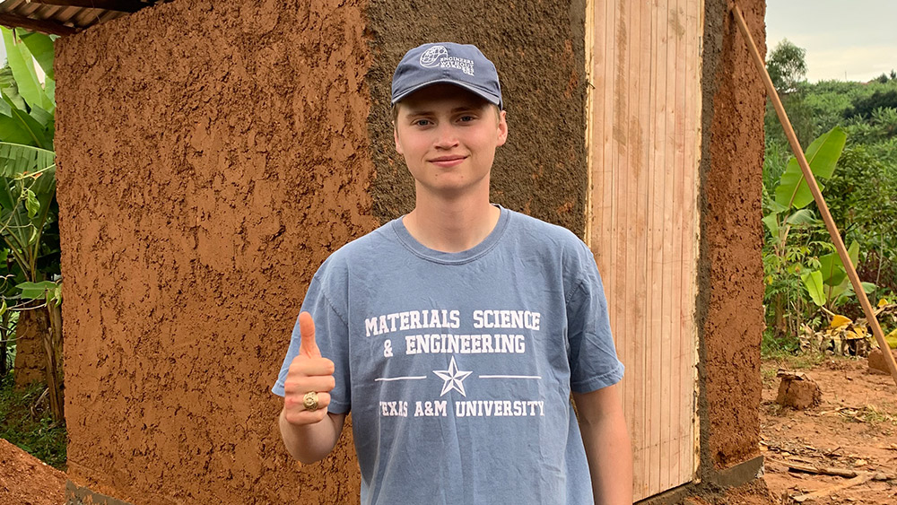
{"type": "Polygon", "coordinates": [[[65,503],[65,474],[0,439],[0,505],[65,503]]]}

